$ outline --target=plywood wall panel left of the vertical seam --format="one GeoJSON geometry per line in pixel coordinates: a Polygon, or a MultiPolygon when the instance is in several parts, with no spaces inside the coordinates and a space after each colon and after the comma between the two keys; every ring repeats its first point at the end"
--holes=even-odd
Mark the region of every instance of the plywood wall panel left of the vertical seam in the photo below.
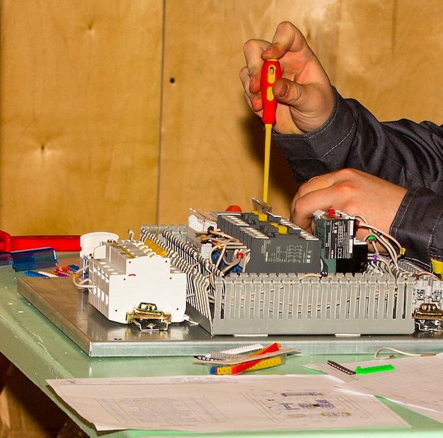
{"type": "Polygon", "coordinates": [[[0,229],[156,219],[163,1],[1,2],[0,229]]]}

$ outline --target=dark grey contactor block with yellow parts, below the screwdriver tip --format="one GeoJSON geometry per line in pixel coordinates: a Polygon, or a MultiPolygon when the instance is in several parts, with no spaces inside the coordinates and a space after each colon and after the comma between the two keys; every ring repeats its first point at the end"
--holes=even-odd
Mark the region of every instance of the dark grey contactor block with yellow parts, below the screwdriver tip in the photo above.
{"type": "Polygon", "coordinates": [[[247,272],[321,272],[321,241],[280,216],[219,214],[217,226],[251,250],[247,272]]]}

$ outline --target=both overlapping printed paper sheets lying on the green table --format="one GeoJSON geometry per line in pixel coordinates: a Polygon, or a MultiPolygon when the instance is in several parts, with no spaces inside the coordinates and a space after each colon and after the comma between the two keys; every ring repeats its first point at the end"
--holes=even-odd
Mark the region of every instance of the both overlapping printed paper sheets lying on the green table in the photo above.
{"type": "Polygon", "coordinates": [[[48,380],[105,430],[323,430],[408,427],[376,396],[443,422],[443,357],[309,365],[320,375],[171,376],[48,380]],[[357,367],[389,371],[352,374],[357,367]],[[338,365],[338,367],[335,367],[338,365]]]}

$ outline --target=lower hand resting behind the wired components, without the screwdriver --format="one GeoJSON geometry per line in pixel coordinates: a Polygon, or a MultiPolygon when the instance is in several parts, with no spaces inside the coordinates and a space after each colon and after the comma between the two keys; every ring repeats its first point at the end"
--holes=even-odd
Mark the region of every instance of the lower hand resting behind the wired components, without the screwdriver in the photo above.
{"type": "MultiPolygon", "coordinates": [[[[389,233],[405,188],[356,169],[316,176],[299,187],[291,203],[291,220],[312,233],[316,210],[341,210],[351,216],[362,216],[368,224],[389,233]]],[[[357,236],[364,237],[366,229],[357,236]]]]}

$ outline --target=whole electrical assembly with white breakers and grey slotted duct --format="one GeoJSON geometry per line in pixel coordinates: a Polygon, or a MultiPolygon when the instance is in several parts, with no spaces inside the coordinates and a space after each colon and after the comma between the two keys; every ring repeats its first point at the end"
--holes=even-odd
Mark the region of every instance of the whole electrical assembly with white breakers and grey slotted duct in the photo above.
{"type": "Polygon", "coordinates": [[[404,260],[389,270],[367,263],[355,221],[321,212],[316,236],[270,212],[142,226],[139,241],[83,253],[89,301],[121,323],[140,303],[171,313],[172,323],[186,312],[211,335],[413,333],[413,305],[441,300],[441,282],[417,280],[422,270],[404,260]]]}

